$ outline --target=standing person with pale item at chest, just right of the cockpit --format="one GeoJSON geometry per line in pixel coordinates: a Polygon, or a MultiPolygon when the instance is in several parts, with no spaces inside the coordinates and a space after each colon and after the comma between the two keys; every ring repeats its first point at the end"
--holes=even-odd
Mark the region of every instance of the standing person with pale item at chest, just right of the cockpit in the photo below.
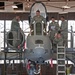
{"type": "Polygon", "coordinates": [[[57,22],[55,22],[54,17],[51,17],[51,20],[52,20],[52,22],[49,23],[48,32],[50,34],[49,37],[50,37],[50,40],[52,43],[52,48],[53,48],[53,46],[54,46],[53,40],[54,40],[55,33],[57,33],[59,31],[59,24],[57,22]]]}

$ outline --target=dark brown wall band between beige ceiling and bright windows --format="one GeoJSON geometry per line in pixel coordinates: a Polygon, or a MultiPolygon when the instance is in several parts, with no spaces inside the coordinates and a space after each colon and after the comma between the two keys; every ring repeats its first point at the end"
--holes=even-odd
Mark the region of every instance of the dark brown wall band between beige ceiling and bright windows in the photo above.
{"type": "MultiPolygon", "coordinates": [[[[7,13],[7,12],[0,12],[0,20],[12,20],[16,15],[19,15],[21,17],[21,20],[28,20],[29,13],[7,13]]],[[[52,16],[55,17],[55,19],[59,20],[61,16],[65,16],[66,20],[75,20],[75,12],[69,12],[65,14],[59,14],[59,13],[47,13],[48,18],[50,19],[52,16]]]]}

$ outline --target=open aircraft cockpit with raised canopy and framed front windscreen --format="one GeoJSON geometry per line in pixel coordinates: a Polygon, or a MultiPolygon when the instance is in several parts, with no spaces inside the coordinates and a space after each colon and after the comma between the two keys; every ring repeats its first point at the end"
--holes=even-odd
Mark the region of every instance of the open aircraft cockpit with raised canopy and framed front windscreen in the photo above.
{"type": "Polygon", "coordinates": [[[31,27],[32,35],[44,35],[45,34],[46,18],[47,18],[47,10],[46,10],[45,5],[41,2],[34,3],[30,9],[30,27],[31,27]],[[41,15],[40,18],[37,18],[36,16],[37,10],[40,11],[40,15],[41,15]]]}

